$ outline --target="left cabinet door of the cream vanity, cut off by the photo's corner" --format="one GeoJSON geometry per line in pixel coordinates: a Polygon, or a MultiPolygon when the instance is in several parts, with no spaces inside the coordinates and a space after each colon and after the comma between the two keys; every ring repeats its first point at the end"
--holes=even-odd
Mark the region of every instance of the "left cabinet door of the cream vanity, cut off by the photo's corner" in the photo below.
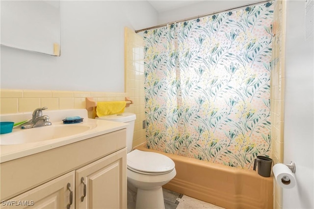
{"type": "Polygon", "coordinates": [[[2,201],[1,209],[74,209],[75,195],[70,190],[75,191],[75,171],[2,201]]]}

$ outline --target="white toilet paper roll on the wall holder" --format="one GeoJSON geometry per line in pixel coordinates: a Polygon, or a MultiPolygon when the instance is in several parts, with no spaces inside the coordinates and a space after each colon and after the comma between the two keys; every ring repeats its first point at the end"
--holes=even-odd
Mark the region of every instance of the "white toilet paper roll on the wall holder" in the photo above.
{"type": "Polygon", "coordinates": [[[276,182],[285,189],[290,189],[295,186],[295,177],[287,165],[277,163],[273,166],[273,174],[276,182]]]}

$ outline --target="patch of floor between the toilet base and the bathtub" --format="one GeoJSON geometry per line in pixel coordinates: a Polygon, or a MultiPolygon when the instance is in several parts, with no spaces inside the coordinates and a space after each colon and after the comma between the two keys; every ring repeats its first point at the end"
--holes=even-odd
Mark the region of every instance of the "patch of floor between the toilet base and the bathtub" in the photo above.
{"type": "Polygon", "coordinates": [[[165,209],[224,209],[165,188],[162,190],[165,209]]]}

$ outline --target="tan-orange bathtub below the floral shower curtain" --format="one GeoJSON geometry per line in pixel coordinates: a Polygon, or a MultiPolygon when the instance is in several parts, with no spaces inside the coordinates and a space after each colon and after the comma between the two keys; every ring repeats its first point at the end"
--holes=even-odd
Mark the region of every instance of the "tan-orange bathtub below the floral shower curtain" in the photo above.
{"type": "Polygon", "coordinates": [[[158,152],[176,163],[176,177],[163,187],[226,209],[272,209],[273,178],[257,172],[158,152]]]}

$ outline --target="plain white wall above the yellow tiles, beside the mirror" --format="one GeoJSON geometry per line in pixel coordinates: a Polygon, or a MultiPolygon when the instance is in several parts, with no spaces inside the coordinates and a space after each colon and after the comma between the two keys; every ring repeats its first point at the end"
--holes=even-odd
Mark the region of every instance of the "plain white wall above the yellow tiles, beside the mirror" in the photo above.
{"type": "Polygon", "coordinates": [[[1,88],[124,92],[124,27],[157,25],[147,1],[64,1],[61,56],[1,46],[1,88]]]}

